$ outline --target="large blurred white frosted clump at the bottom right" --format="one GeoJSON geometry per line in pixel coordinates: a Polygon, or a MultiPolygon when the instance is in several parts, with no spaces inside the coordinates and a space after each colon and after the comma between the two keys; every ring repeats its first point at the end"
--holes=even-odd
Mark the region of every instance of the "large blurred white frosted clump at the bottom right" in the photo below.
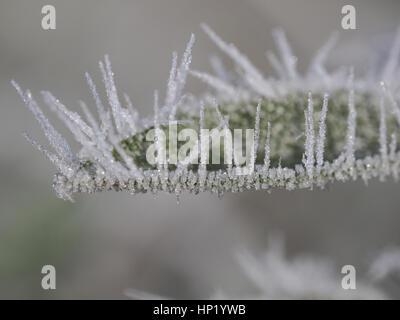
{"type": "MultiPolygon", "coordinates": [[[[255,288],[247,299],[383,299],[386,294],[367,279],[357,279],[355,290],[341,287],[339,268],[320,257],[286,257],[283,241],[270,238],[265,253],[255,257],[242,250],[237,255],[244,276],[255,288]]],[[[213,299],[234,299],[223,291],[213,299]]],[[[237,297],[239,298],[239,297],[237,297]]],[[[242,297],[241,297],[242,298],[242,297]]]]}

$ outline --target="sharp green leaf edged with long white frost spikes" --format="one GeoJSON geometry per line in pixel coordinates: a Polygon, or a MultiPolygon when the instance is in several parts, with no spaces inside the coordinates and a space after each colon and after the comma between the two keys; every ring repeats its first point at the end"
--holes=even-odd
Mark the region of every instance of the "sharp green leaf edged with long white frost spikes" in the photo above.
{"type": "Polygon", "coordinates": [[[102,190],[132,194],[165,191],[177,196],[183,191],[211,191],[222,195],[244,190],[312,189],[359,177],[365,182],[373,177],[398,179],[400,109],[395,93],[400,85],[400,29],[384,63],[371,66],[364,77],[355,77],[352,68],[325,68],[337,34],[315,53],[307,72],[299,74],[284,32],[275,30],[278,54],[270,51],[266,56],[277,77],[266,77],[233,44],[225,43],[207,25],[202,28],[233,60],[236,72],[226,70],[218,58],[211,61],[215,74],[190,70],[192,35],[182,57],[178,59],[176,52],[172,55],[165,98],[161,102],[158,92],[154,93],[153,117],[139,117],[128,95],[118,94],[108,56],[99,63],[107,105],[86,73],[97,116],[81,101],[82,118],[50,92],[42,92],[44,102],[82,145],[76,154],[31,93],[13,82],[54,149],[48,151],[24,133],[58,169],[53,186],[59,197],[72,200],[75,192],[102,190]],[[188,75],[209,84],[210,90],[201,97],[185,93],[188,75]],[[202,134],[199,144],[203,148],[191,154],[199,160],[197,164],[176,162],[169,147],[182,142],[170,134],[171,123],[179,130],[198,132],[254,129],[248,159],[252,170],[236,174],[245,146],[229,153],[222,145],[219,164],[207,163],[214,150],[204,148],[210,141],[202,134]],[[146,152],[152,142],[146,137],[154,129],[157,161],[151,164],[146,152]],[[164,157],[166,162],[160,160],[164,157]]]}

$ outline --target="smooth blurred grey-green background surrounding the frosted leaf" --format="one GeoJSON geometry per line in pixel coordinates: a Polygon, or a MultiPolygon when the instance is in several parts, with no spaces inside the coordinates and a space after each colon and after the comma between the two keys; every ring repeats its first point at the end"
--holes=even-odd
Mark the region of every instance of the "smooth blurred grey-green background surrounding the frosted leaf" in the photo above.
{"type": "MultiPolygon", "coordinates": [[[[392,181],[368,187],[337,183],[313,192],[227,194],[222,199],[184,194],[179,204],[170,195],[115,192],[64,202],[51,188],[53,166],[21,136],[26,130],[46,143],[10,84],[15,79],[38,100],[41,90],[49,90],[78,110],[78,99],[92,103],[84,72],[100,86],[97,62],[108,53],[119,92],[127,92],[141,115],[147,115],[153,90],[164,92],[166,87],[172,51],[182,53],[191,32],[197,36],[194,69],[209,71],[209,58],[220,54],[201,31],[201,22],[234,42],[266,74],[272,72],[264,53],[275,49],[274,27],[285,29],[300,70],[338,30],[340,41],[330,64],[354,64],[361,73],[373,48],[393,35],[400,2],[350,2],[2,0],[0,298],[123,299],[127,288],[172,298],[207,298],[216,290],[244,296],[251,288],[235,251],[262,253],[274,232],[285,238],[289,257],[326,257],[338,274],[344,264],[362,274],[376,253],[400,245],[400,185],[392,181]],[[46,4],[56,8],[56,30],[41,28],[46,4]],[[345,4],[357,10],[357,30],[341,29],[345,4]],[[57,270],[53,291],[40,285],[46,264],[57,270]]],[[[205,87],[189,79],[186,89],[201,93],[205,87]]],[[[78,151],[71,135],[66,136],[78,151]]],[[[400,288],[392,295],[399,298],[400,288]]]]}

